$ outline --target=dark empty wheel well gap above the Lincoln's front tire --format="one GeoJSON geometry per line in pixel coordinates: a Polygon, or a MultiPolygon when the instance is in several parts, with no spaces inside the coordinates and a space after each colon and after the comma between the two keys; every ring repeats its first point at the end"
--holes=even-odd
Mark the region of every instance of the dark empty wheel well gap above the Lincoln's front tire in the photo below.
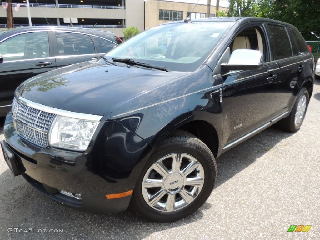
{"type": "Polygon", "coordinates": [[[196,120],[183,124],[178,128],[195,135],[211,150],[214,157],[218,155],[219,137],[215,128],[208,122],[196,120]]]}

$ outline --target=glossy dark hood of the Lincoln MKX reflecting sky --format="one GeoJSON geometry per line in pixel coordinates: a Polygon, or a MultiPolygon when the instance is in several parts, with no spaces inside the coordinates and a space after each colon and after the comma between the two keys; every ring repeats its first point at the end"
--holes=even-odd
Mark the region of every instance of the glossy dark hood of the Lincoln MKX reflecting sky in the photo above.
{"type": "Polygon", "coordinates": [[[23,98],[53,108],[110,115],[130,99],[185,74],[89,61],[32,77],[19,86],[18,92],[23,98]]]}

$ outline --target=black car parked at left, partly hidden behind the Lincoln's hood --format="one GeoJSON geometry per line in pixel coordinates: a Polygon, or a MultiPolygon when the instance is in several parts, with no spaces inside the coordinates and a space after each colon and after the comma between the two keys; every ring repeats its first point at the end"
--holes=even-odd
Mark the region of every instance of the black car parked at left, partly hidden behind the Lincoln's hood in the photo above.
{"type": "Polygon", "coordinates": [[[0,31],[0,116],[11,109],[23,81],[55,68],[99,58],[122,40],[83,28],[27,27],[0,31]]]}

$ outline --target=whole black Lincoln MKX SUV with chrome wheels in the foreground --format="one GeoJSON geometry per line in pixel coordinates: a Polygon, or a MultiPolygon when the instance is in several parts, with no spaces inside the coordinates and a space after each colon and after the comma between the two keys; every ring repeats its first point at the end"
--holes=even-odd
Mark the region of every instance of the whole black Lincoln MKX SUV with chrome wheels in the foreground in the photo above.
{"type": "Polygon", "coordinates": [[[284,22],[172,22],[21,84],[1,146],[14,175],[60,204],[178,220],[210,196],[223,152],[274,123],[300,129],[313,71],[284,22]]]}

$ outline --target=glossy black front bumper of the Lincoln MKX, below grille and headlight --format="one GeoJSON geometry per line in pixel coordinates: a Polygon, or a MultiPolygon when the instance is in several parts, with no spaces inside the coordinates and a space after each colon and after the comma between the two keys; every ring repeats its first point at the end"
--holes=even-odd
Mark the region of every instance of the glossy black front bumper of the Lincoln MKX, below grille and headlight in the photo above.
{"type": "Polygon", "coordinates": [[[87,212],[124,211],[131,195],[116,199],[105,195],[134,189],[152,148],[118,122],[101,122],[98,128],[84,153],[40,148],[17,135],[9,113],[4,124],[6,141],[1,145],[14,175],[22,174],[56,202],[87,212]],[[61,194],[61,190],[81,194],[82,199],[61,194]]]}

